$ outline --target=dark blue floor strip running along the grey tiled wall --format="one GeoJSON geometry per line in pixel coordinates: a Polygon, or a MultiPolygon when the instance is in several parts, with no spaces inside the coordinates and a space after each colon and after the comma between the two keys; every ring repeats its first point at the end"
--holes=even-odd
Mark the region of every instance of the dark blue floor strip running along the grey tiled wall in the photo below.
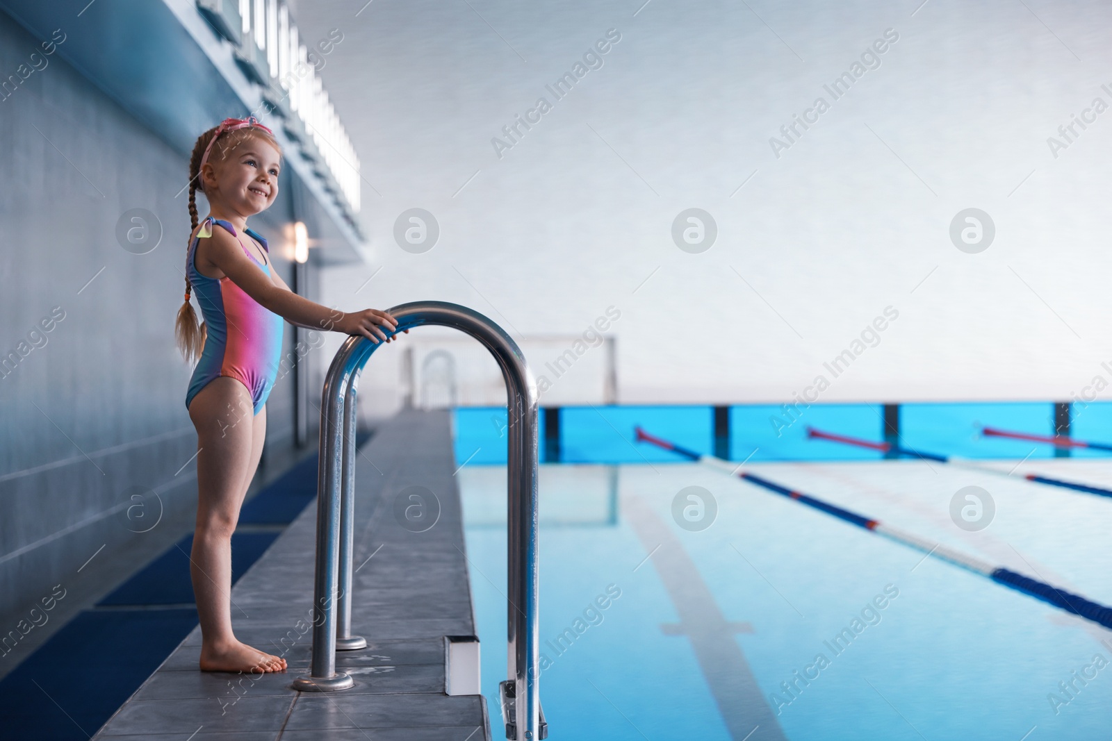
{"type": "MultiPolygon", "coordinates": [[[[358,445],[370,433],[360,431],[358,445]]],[[[246,502],[240,524],[289,524],[317,495],[317,455],[246,502]]],[[[235,583],[279,532],[232,535],[235,583]]],[[[148,563],[98,607],[192,604],[192,534],[148,563]]],[[[196,608],[85,610],[0,680],[0,741],[87,741],[197,625],[196,608]]]]}

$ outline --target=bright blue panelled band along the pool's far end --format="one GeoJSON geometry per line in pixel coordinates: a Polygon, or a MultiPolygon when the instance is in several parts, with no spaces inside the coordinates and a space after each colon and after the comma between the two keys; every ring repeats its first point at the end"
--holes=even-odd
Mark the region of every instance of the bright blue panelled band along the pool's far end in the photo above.
{"type": "MultiPolygon", "coordinates": [[[[982,427],[1050,435],[1054,431],[1050,402],[910,403],[900,405],[900,444],[923,452],[963,458],[1054,458],[1050,445],[986,438],[982,427]]],[[[542,410],[540,430],[546,410],[542,410]]],[[[1079,440],[1112,443],[1112,402],[1073,407],[1072,434],[1079,440]]],[[[468,464],[506,462],[505,407],[456,411],[456,457],[468,464]]],[[[643,427],[679,445],[714,453],[712,407],[565,407],[560,410],[560,461],[565,463],[651,463],[671,461],[672,453],[635,442],[643,427]]],[[[813,404],[788,414],[771,404],[729,408],[729,458],[743,461],[881,460],[874,450],[811,440],[806,429],[884,440],[882,404],[813,404]]],[[[1108,453],[1073,450],[1071,458],[1108,453]]]]}

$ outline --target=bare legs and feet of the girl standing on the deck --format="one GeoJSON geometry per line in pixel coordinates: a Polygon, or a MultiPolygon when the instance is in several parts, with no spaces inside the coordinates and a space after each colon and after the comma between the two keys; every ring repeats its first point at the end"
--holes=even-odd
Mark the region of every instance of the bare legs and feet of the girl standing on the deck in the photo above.
{"type": "Polygon", "coordinates": [[[212,380],[193,397],[197,428],[197,530],[190,573],[201,624],[202,671],[280,671],[285,659],[236,640],[231,630],[231,533],[258,465],[265,412],[252,417],[247,388],[232,378],[212,380]],[[259,417],[262,419],[260,420],[259,417]]]}

